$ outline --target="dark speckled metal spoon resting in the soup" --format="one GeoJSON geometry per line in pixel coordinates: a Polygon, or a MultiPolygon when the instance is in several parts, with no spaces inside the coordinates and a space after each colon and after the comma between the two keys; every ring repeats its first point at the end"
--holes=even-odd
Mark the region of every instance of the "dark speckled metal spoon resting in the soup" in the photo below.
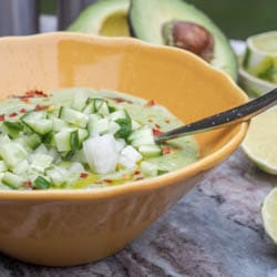
{"type": "Polygon", "coordinates": [[[249,121],[253,116],[264,112],[275,104],[277,104],[277,88],[260,98],[249,101],[246,104],[157,135],[155,141],[160,143],[179,136],[197,134],[219,127],[225,127],[230,124],[249,121]]]}

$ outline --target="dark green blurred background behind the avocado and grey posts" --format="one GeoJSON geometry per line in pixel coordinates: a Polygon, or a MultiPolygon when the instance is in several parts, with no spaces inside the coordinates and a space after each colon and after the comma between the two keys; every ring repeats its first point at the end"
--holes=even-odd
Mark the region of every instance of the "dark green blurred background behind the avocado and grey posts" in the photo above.
{"type": "MultiPolygon", "coordinates": [[[[242,40],[254,33],[277,30],[277,0],[186,1],[207,13],[230,39],[242,40]]],[[[41,0],[42,11],[53,13],[55,2],[41,0]]]]}

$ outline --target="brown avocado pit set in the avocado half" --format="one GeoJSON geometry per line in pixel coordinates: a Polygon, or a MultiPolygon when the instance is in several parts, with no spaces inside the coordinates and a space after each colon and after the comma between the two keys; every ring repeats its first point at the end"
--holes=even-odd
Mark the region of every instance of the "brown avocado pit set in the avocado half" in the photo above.
{"type": "Polygon", "coordinates": [[[165,44],[191,51],[207,62],[214,58],[214,39],[204,27],[173,20],[162,27],[165,44]]]}

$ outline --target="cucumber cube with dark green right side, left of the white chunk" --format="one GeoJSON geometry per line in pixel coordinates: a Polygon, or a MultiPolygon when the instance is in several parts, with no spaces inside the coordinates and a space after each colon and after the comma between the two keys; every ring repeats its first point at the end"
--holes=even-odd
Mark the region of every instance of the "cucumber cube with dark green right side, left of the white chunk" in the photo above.
{"type": "Polygon", "coordinates": [[[54,135],[55,145],[59,152],[68,152],[79,148],[78,130],[63,130],[54,135]]]}

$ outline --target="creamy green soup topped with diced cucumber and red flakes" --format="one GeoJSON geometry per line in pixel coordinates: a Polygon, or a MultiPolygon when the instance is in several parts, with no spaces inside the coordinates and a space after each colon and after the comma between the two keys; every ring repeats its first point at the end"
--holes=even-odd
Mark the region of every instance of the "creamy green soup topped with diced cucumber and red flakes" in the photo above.
{"type": "Polygon", "coordinates": [[[113,91],[29,91],[0,103],[0,188],[93,188],[155,177],[197,160],[182,122],[153,100],[113,91]]]}

